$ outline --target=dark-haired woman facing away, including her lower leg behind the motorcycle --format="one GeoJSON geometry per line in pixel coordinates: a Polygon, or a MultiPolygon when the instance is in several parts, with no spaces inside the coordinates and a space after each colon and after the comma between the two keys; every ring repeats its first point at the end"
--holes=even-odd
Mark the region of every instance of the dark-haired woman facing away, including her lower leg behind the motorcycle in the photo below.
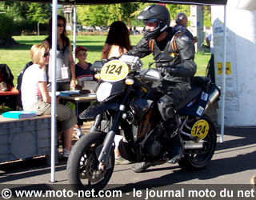
{"type": "MultiPolygon", "coordinates": [[[[128,50],[131,49],[130,46],[130,34],[127,26],[121,22],[116,21],[113,22],[110,26],[109,34],[106,37],[106,42],[103,46],[102,50],[102,59],[118,57],[122,54],[125,54],[128,50]]],[[[114,143],[114,157],[115,157],[115,165],[126,165],[130,164],[130,162],[121,157],[118,146],[119,142],[122,140],[121,135],[115,135],[114,143]]]]}

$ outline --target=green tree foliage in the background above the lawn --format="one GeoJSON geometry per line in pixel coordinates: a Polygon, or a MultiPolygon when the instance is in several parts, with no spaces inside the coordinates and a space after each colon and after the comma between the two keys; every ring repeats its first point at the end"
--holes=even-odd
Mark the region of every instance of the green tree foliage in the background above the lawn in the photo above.
{"type": "MultiPolygon", "coordinates": [[[[78,24],[82,26],[110,26],[114,21],[120,20],[126,26],[143,26],[143,22],[137,19],[138,14],[152,3],[121,3],[108,5],[77,6],[78,24]]],[[[166,4],[170,10],[170,18],[174,19],[178,12],[184,12],[190,16],[190,6],[166,4]]],[[[5,11],[5,16],[10,19],[12,34],[21,32],[30,33],[37,30],[37,24],[46,24],[51,17],[50,4],[15,2],[6,0],[0,2],[0,11],[5,11]],[[16,29],[15,29],[16,27],[16,29]],[[17,31],[18,30],[18,31],[17,31]],[[14,32],[15,31],[15,32],[14,32]]],[[[204,25],[210,26],[210,6],[204,6],[204,25]]],[[[63,15],[62,6],[58,9],[58,14],[63,15]]],[[[6,22],[6,21],[5,21],[6,22]]],[[[189,26],[190,26],[190,22],[189,26]]],[[[42,30],[42,28],[40,27],[42,30]]]]}

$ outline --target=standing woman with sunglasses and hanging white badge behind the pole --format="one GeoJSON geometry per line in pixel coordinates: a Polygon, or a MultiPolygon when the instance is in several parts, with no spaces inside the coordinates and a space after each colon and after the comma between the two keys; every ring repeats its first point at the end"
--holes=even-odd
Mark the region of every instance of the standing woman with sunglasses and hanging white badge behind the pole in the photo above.
{"type": "MultiPolygon", "coordinates": [[[[48,37],[42,42],[50,49],[52,55],[52,18],[48,24],[48,37]]],[[[47,69],[48,74],[48,87],[51,91],[52,83],[52,56],[50,56],[49,67],[47,69]]],[[[75,87],[75,70],[74,59],[72,56],[72,49],[70,39],[66,36],[66,18],[58,15],[57,24],[57,54],[56,54],[56,90],[70,90],[70,87],[75,87]]]]}

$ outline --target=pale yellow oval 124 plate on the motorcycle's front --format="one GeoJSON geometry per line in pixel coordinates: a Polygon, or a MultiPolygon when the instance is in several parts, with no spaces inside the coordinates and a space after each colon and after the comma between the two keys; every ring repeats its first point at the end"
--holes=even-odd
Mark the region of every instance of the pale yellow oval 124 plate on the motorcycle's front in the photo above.
{"type": "Polygon", "coordinates": [[[118,82],[126,78],[128,73],[129,67],[125,62],[112,60],[102,67],[101,77],[106,82],[118,82]]]}

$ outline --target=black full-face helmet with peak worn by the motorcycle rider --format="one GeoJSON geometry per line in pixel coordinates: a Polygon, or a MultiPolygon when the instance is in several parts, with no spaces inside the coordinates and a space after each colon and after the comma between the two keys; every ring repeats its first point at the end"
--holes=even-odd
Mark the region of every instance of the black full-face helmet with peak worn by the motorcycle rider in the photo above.
{"type": "Polygon", "coordinates": [[[170,26],[170,13],[166,6],[162,5],[150,5],[147,6],[140,14],[138,19],[144,20],[144,38],[150,40],[162,34],[170,26]],[[158,22],[158,26],[154,30],[146,30],[146,21],[155,20],[158,22]]]}

